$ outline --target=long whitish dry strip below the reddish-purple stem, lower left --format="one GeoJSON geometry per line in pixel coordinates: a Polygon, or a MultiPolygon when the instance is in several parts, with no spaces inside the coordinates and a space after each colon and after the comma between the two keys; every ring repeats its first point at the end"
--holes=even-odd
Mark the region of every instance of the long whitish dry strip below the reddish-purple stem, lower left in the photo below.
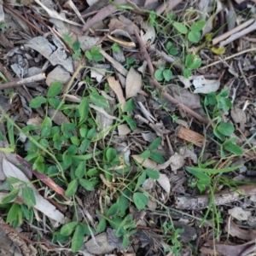
{"type": "MultiPolygon", "coordinates": [[[[20,181],[27,183],[27,186],[29,186],[34,192],[37,202],[35,208],[38,209],[38,211],[43,212],[47,217],[55,220],[58,224],[64,224],[66,222],[64,215],[60,211],[56,210],[49,201],[45,200],[44,197],[38,193],[38,190],[35,189],[32,183],[30,183],[30,180],[26,175],[6,159],[3,159],[3,172],[6,177],[16,177],[20,179],[20,181]]],[[[15,187],[20,186],[20,183],[15,183],[13,185],[15,187]]],[[[56,224],[56,226],[58,224],[56,224]]]]}

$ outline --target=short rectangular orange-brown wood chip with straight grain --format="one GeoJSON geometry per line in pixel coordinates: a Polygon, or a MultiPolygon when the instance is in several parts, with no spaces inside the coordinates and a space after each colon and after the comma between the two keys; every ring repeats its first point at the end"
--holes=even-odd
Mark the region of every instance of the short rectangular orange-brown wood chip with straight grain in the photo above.
{"type": "Polygon", "coordinates": [[[195,146],[200,148],[202,148],[205,141],[205,137],[203,137],[201,134],[195,131],[189,130],[183,127],[182,125],[177,126],[176,136],[189,143],[193,143],[195,144],[195,146]]]}

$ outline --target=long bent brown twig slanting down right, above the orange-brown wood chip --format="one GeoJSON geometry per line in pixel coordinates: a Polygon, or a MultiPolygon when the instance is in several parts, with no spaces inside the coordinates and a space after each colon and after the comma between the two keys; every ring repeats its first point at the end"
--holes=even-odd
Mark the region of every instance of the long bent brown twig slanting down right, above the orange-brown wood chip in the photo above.
{"type": "Polygon", "coordinates": [[[148,51],[145,47],[145,45],[143,44],[143,40],[142,38],[139,36],[138,32],[136,30],[134,30],[134,34],[137,38],[138,43],[140,44],[142,50],[143,50],[143,55],[145,60],[148,62],[148,69],[151,75],[151,84],[154,85],[154,87],[156,87],[157,89],[161,90],[162,95],[166,98],[166,100],[172,102],[173,104],[176,104],[178,108],[182,108],[183,111],[185,111],[186,113],[191,114],[193,117],[195,117],[195,119],[198,119],[199,121],[201,121],[204,124],[208,124],[209,120],[203,118],[199,113],[195,113],[195,111],[193,111],[192,109],[188,108],[187,106],[183,105],[183,103],[178,102],[173,96],[171,96],[170,94],[168,94],[166,91],[163,91],[162,86],[159,84],[158,81],[156,81],[154,79],[154,67],[152,65],[152,62],[150,60],[150,57],[148,55],[148,51]]]}

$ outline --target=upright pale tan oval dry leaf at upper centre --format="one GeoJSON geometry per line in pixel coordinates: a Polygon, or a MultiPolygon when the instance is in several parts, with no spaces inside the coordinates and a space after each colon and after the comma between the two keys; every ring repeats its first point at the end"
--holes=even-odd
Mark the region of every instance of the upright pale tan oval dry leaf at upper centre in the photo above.
{"type": "Polygon", "coordinates": [[[133,67],[131,67],[127,74],[125,82],[126,99],[137,96],[137,93],[142,88],[142,83],[142,75],[137,73],[137,71],[133,67]]]}

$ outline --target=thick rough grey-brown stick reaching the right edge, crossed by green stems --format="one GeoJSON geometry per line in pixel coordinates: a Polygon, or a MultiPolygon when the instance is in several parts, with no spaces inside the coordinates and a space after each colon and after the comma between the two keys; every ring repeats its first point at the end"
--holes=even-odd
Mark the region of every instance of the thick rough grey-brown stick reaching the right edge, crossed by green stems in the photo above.
{"type": "MultiPolygon", "coordinates": [[[[255,185],[244,185],[235,189],[224,189],[214,195],[213,203],[216,206],[225,205],[251,195],[256,195],[255,185]]],[[[175,204],[177,209],[202,210],[209,206],[210,197],[211,195],[177,196],[175,204]]]]}

